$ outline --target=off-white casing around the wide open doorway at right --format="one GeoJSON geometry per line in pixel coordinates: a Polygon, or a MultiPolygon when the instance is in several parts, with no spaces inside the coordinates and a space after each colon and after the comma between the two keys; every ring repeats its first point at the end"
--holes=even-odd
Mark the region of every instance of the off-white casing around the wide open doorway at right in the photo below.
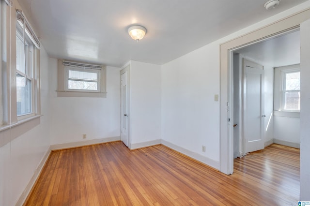
{"type": "Polygon", "coordinates": [[[233,50],[300,27],[310,8],[220,44],[220,172],[233,174],[233,50]]]}

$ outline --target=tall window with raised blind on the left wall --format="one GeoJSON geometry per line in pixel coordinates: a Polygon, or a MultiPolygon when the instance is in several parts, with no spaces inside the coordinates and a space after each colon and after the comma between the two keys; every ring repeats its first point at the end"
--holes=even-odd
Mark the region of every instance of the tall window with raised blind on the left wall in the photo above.
{"type": "Polygon", "coordinates": [[[40,114],[39,48],[28,21],[16,9],[16,120],[40,114]]]}

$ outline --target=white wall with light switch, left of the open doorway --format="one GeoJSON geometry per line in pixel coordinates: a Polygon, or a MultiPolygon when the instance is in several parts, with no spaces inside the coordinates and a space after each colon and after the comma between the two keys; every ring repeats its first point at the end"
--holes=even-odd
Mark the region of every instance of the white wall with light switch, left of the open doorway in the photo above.
{"type": "Polygon", "coordinates": [[[218,54],[218,43],[208,44],[162,65],[161,76],[162,139],[214,167],[219,161],[218,54]]]}

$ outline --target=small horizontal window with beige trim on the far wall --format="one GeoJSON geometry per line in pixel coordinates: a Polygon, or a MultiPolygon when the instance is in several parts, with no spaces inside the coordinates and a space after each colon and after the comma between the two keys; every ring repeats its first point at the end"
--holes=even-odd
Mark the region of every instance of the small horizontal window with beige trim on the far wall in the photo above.
{"type": "Polygon", "coordinates": [[[104,66],[59,59],[57,95],[106,97],[105,77],[104,66]]]}

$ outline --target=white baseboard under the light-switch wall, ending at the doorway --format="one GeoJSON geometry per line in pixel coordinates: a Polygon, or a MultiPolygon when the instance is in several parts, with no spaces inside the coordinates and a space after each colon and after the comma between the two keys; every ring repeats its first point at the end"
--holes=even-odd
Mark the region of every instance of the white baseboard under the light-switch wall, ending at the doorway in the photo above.
{"type": "Polygon", "coordinates": [[[201,154],[198,154],[196,152],[192,152],[192,151],[185,149],[183,147],[179,147],[177,145],[174,145],[174,144],[172,144],[166,140],[161,140],[161,144],[163,144],[167,147],[170,147],[171,149],[174,149],[174,150],[176,150],[182,154],[185,154],[185,155],[187,155],[187,156],[189,156],[189,157],[191,157],[191,158],[193,158],[199,162],[202,162],[204,164],[207,164],[207,165],[219,170],[219,161],[214,161],[210,158],[202,156],[201,154]]]}

